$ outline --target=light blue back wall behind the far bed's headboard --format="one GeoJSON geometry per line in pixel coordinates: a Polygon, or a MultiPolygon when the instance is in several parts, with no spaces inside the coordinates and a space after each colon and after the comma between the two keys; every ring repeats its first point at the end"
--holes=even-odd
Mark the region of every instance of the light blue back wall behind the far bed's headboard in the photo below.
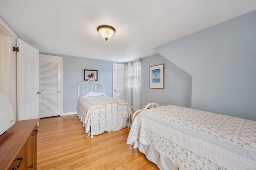
{"type": "MultiPolygon", "coordinates": [[[[124,63],[119,63],[124,64],[124,63]]],[[[80,57],[63,57],[63,113],[77,111],[77,88],[84,81],[84,69],[98,70],[104,93],[113,96],[113,62],[80,57]]]]}

